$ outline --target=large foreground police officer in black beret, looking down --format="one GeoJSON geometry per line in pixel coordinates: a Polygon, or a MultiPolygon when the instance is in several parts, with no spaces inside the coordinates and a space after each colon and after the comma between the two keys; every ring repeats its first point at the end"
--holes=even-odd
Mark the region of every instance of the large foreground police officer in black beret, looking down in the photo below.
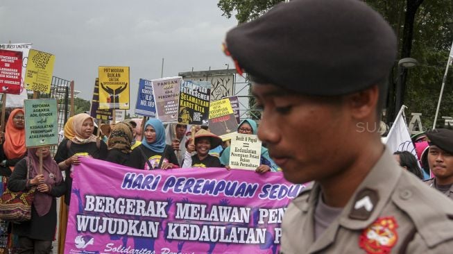
{"type": "Polygon", "coordinates": [[[453,202],[403,171],[377,128],[396,37],[357,0],[293,0],[228,32],[258,136],[292,183],[282,253],[452,253],[453,202]],[[435,208],[435,209],[434,209],[435,208]]]}

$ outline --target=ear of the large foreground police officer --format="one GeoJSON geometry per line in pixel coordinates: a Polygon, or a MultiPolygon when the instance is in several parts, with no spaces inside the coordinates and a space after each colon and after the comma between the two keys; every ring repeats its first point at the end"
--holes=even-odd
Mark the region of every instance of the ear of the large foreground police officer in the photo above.
{"type": "Polygon", "coordinates": [[[345,96],[345,103],[350,108],[354,119],[364,120],[376,117],[376,107],[379,100],[379,87],[373,85],[367,90],[345,96]]]}

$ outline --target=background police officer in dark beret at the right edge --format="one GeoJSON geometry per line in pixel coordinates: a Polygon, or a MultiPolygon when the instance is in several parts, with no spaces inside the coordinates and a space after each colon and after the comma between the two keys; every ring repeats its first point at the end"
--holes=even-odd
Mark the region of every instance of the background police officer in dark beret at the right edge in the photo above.
{"type": "Polygon", "coordinates": [[[434,178],[425,183],[453,199],[453,130],[434,129],[426,135],[429,169],[434,178]]]}

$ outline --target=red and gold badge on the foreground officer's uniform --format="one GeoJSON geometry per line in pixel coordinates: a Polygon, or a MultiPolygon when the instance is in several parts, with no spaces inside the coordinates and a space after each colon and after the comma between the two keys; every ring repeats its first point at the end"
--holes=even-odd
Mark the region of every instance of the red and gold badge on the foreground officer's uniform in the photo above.
{"type": "Polygon", "coordinates": [[[398,224],[393,217],[378,218],[364,229],[359,238],[359,246],[368,254],[390,253],[398,240],[398,224]]]}

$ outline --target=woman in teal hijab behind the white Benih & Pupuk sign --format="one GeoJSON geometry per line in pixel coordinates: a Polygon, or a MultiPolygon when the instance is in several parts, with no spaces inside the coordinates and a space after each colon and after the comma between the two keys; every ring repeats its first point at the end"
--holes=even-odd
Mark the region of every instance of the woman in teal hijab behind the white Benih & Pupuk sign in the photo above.
{"type": "MultiPolygon", "coordinates": [[[[239,127],[237,128],[238,133],[249,135],[257,135],[257,130],[257,123],[252,119],[244,119],[243,121],[241,121],[241,124],[239,124],[239,127]]],[[[230,146],[228,146],[221,153],[220,162],[226,165],[225,167],[230,168],[230,146]]],[[[264,146],[261,146],[261,159],[259,164],[259,167],[255,169],[255,172],[257,173],[266,173],[267,171],[280,171],[277,164],[275,164],[271,157],[269,157],[268,149],[266,149],[266,147],[264,146]]]]}

